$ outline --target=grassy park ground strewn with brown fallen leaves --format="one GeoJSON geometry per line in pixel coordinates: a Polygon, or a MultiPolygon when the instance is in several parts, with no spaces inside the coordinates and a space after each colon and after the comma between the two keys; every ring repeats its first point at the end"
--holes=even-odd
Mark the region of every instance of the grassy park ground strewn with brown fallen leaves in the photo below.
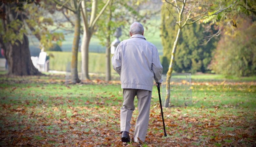
{"type": "MultiPolygon", "coordinates": [[[[1,75],[0,146],[139,146],[120,140],[118,81],[65,85],[64,80],[1,75]]],[[[142,146],[256,146],[255,108],[255,81],[194,80],[191,105],[163,109],[168,134],[163,137],[154,87],[142,146]]]]}

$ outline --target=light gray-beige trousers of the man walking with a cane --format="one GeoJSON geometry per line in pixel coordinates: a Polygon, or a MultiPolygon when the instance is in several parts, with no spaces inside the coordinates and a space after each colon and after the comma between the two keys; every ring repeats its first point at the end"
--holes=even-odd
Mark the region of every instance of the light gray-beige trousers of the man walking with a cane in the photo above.
{"type": "Polygon", "coordinates": [[[134,142],[138,142],[137,137],[143,142],[148,130],[149,121],[149,110],[151,101],[151,91],[140,90],[140,89],[123,89],[123,106],[120,110],[120,128],[122,131],[130,132],[131,128],[131,118],[133,115],[134,107],[134,97],[138,98],[138,110],[139,115],[136,120],[136,126],[134,131],[134,142]]]}

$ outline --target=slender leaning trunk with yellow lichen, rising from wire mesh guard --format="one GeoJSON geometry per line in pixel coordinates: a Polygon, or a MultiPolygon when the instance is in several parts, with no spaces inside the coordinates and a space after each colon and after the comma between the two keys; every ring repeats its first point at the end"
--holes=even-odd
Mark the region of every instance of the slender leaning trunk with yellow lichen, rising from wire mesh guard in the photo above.
{"type": "Polygon", "coordinates": [[[177,48],[177,42],[180,38],[180,31],[181,29],[178,29],[176,39],[173,43],[173,50],[172,50],[172,56],[171,56],[171,61],[170,61],[170,66],[168,69],[168,72],[166,74],[166,97],[164,101],[164,107],[169,107],[169,101],[170,101],[170,80],[173,72],[173,63],[174,63],[174,58],[175,58],[175,53],[176,53],[176,48],[177,48]]]}

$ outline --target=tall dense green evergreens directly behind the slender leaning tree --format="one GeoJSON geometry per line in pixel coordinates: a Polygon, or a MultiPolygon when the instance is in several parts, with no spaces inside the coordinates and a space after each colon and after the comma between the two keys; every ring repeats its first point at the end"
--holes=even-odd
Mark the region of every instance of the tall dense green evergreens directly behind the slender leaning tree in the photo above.
{"type": "MultiPolygon", "coordinates": [[[[170,4],[168,4],[169,6],[170,4]]],[[[176,8],[170,8],[173,14],[176,14],[176,8]]],[[[205,24],[204,24],[205,25],[205,24]]],[[[210,33],[204,32],[203,24],[194,23],[192,25],[185,26],[180,33],[180,38],[177,42],[177,49],[175,54],[173,70],[176,72],[209,72],[207,68],[211,62],[211,54],[215,49],[215,43],[217,38],[211,39],[206,45],[204,44],[204,36],[208,36],[210,33]]],[[[215,31],[210,29],[211,31],[215,31]]],[[[166,4],[161,8],[161,40],[163,45],[163,63],[164,69],[169,68],[171,53],[173,49],[173,43],[176,39],[178,25],[176,20],[170,14],[166,4]]],[[[164,71],[167,72],[167,71],[164,71]]]]}

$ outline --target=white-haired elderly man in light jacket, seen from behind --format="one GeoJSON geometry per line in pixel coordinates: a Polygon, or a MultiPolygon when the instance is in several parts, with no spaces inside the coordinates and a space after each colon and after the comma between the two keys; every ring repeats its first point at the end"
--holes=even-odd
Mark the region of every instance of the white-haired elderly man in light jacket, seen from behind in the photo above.
{"type": "Polygon", "coordinates": [[[120,75],[123,89],[123,106],[120,110],[121,140],[130,142],[130,121],[134,107],[134,97],[138,98],[139,115],[136,120],[134,142],[144,142],[148,129],[149,110],[153,80],[163,81],[163,67],[156,47],[146,41],[141,23],[130,26],[130,39],[123,40],[112,57],[114,70],[120,75]]]}

